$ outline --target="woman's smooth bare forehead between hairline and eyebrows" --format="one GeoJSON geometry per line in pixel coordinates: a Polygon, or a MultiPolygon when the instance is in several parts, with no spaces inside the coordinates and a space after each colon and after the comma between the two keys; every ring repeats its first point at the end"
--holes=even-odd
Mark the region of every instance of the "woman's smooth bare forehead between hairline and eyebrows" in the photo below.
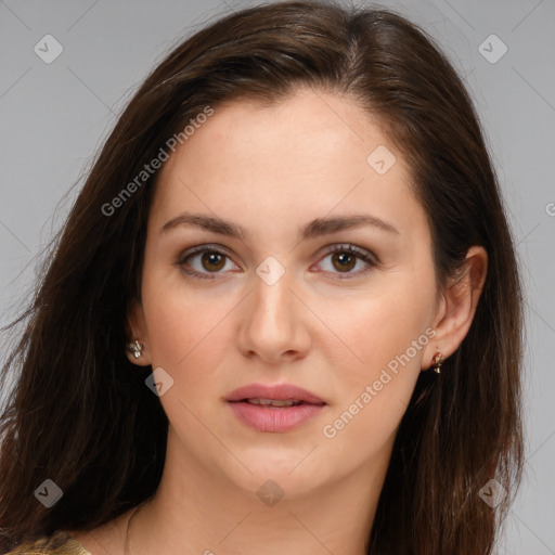
{"type": "Polygon", "coordinates": [[[162,168],[153,215],[202,210],[268,228],[361,209],[405,230],[425,224],[402,154],[377,120],[348,99],[305,90],[272,105],[215,106],[162,168]]]}

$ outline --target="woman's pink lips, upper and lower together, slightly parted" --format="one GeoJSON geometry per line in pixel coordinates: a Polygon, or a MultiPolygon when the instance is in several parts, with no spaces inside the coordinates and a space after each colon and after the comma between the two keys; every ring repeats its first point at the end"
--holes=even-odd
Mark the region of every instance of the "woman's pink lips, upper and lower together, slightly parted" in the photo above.
{"type": "Polygon", "coordinates": [[[227,399],[235,416],[257,431],[284,433],[312,420],[327,404],[293,384],[250,384],[227,399]]]}

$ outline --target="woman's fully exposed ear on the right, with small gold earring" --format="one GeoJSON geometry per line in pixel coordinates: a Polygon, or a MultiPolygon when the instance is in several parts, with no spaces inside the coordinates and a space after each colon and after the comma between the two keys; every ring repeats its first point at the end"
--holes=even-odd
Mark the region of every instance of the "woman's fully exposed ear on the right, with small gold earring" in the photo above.
{"type": "Polygon", "coordinates": [[[423,370],[435,364],[434,356],[441,352],[443,360],[453,354],[466,337],[473,323],[488,272],[488,254],[481,246],[473,246],[466,254],[464,268],[452,278],[441,293],[434,328],[437,335],[426,346],[423,370]]]}

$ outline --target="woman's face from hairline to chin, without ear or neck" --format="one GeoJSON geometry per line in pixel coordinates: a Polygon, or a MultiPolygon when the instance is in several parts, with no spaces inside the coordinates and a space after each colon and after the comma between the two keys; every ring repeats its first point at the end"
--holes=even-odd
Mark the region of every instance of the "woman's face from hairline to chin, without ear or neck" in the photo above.
{"type": "Polygon", "coordinates": [[[167,464],[301,495],[384,463],[436,293],[409,168],[359,105],[305,90],[215,107],[162,169],[132,312],[164,369],[167,464]],[[253,384],[269,389],[232,395],[253,384]]]}

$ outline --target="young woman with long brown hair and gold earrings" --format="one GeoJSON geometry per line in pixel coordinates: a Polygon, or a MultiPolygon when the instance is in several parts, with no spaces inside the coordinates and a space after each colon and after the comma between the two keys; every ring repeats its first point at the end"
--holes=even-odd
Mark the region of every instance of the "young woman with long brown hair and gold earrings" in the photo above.
{"type": "Polygon", "coordinates": [[[175,49],[23,319],[4,550],[492,553],[515,247],[464,86],[395,13],[283,2],[175,49]]]}

